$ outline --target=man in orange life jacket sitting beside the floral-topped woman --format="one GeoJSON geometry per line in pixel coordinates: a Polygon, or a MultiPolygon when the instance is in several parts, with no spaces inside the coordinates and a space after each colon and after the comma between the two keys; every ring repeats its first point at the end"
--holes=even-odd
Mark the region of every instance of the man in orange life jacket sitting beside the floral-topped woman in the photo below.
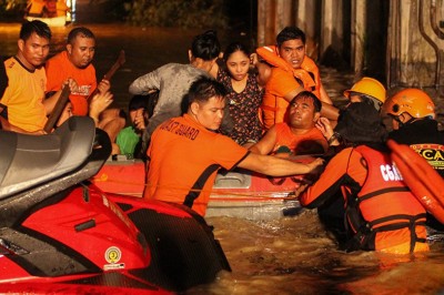
{"type": "Polygon", "coordinates": [[[301,91],[313,92],[323,103],[322,115],[337,120],[337,109],[333,106],[321,82],[317,65],[305,55],[305,33],[297,27],[286,27],[276,37],[276,47],[256,50],[268,64],[256,63],[260,78],[266,81],[262,102],[265,129],[284,122],[290,101],[301,91]]]}

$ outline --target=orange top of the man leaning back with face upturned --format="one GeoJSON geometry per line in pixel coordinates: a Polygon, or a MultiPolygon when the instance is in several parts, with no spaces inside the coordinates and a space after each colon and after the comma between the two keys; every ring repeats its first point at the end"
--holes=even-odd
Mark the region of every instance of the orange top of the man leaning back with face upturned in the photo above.
{"type": "Polygon", "coordinates": [[[299,135],[292,133],[286,123],[278,123],[274,129],[276,131],[276,142],[273,152],[281,146],[289,148],[294,154],[324,153],[329,149],[324,135],[316,128],[299,135]]]}

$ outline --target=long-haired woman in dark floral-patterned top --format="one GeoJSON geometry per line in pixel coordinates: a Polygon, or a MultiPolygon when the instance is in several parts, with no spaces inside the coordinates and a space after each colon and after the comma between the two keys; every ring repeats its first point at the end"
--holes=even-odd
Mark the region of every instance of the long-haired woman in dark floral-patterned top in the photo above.
{"type": "Polygon", "coordinates": [[[229,44],[223,52],[223,61],[225,69],[216,67],[216,80],[228,90],[226,100],[233,126],[229,131],[222,129],[221,133],[248,148],[262,136],[259,108],[263,90],[258,82],[258,73],[250,70],[250,52],[245,45],[239,42],[229,44]]]}

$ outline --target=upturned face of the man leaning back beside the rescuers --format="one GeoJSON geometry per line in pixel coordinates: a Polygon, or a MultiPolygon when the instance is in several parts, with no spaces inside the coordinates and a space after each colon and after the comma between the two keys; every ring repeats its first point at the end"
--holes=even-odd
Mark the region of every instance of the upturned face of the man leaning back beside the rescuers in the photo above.
{"type": "Polygon", "coordinates": [[[291,128],[312,129],[319,116],[320,113],[315,111],[312,99],[300,98],[290,104],[291,128]]]}

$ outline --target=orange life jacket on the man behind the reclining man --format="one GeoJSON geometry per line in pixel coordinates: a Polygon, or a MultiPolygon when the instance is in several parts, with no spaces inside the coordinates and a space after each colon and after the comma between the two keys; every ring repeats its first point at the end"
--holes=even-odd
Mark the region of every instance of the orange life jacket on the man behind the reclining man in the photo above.
{"type": "MultiPolygon", "coordinates": [[[[312,59],[305,55],[301,68],[293,69],[285,60],[279,57],[275,45],[258,48],[256,53],[269,64],[292,73],[305,90],[313,92],[319,99],[321,98],[321,77],[319,68],[312,59]]],[[[264,122],[265,128],[269,129],[275,123],[284,122],[287,106],[289,102],[284,98],[265,93],[261,105],[262,115],[274,118],[274,122],[264,122]],[[270,115],[265,115],[264,113],[269,113],[270,115]]]]}

